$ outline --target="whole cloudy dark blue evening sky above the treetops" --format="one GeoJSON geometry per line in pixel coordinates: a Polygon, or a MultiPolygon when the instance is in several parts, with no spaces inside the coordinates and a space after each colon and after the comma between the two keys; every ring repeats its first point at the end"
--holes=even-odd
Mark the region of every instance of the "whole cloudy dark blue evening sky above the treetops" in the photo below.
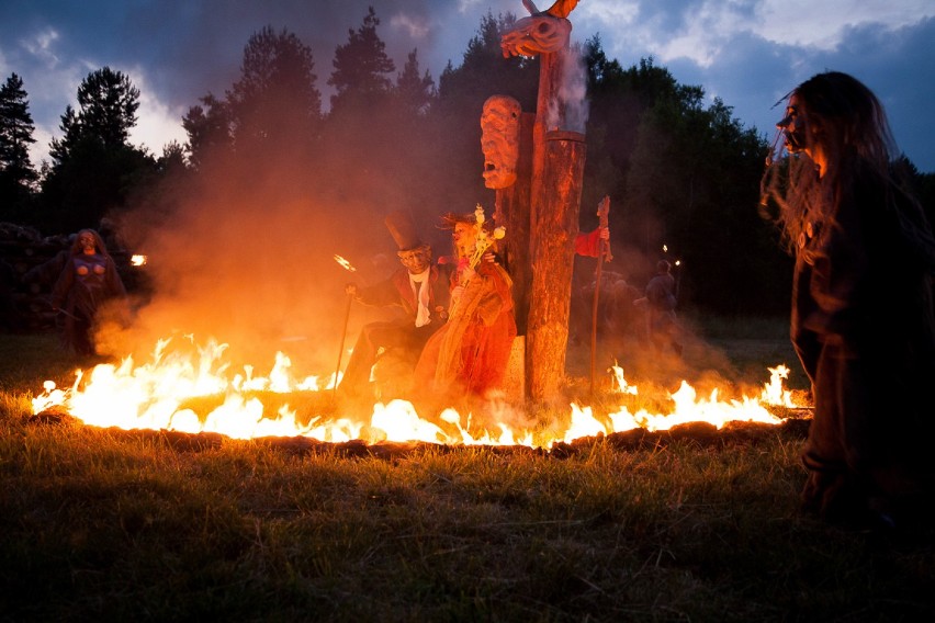
{"type": "MultiPolygon", "coordinates": [[[[326,91],[335,47],[371,4],[397,67],[418,48],[436,79],[449,60],[460,64],[487,11],[526,15],[520,0],[4,0],[0,76],[23,78],[36,165],[78,84],[103,66],[140,89],[133,140],[159,154],[184,141],[189,106],[236,80],[244,46],[263,26],[286,29],[312,48],[326,91]]],[[[852,73],[883,101],[900,148],[935,172],[932,0],[581,0],[571,21],[574,39],[599,33],[624,67],[653,56],[770,138],[779,116],[771,106],[782,94],[820,71],[852,73]]]]}

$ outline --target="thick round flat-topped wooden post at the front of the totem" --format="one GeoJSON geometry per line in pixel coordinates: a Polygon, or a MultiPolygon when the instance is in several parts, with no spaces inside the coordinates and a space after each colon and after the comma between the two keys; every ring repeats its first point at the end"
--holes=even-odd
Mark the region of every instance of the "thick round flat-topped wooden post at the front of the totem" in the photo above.
{"type": "Polygon", "coordinates": [[[541,183],[548,192],[533,195],[532,293],[526,344],[527,387],[533,400],[552,399],[565,377],[585,156],[583,134],[545,134],[541,183]]]}

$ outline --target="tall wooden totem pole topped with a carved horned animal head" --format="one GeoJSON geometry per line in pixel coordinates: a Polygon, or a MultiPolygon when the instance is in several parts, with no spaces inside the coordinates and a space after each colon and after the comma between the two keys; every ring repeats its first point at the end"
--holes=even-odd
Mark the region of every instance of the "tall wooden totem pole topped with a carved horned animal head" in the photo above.
{"type": "Polygon", "coordinates": [[[517,327],[525,333],[526,393],[537,401],[557,396],[568,344],[586,155],[583,124],[573,127],[578,122],[572,118],[583,103],[583,90],[567,88],[576,58],[568,48],[572,24],[566,18],[575,4],[560,0],[538,11],[523,0],[531,15],[504,34],[504,56],[539,56],[539,94],[534,116],[517,113],[516,181],[497,188],[485,171],[487,186],[497,189],[495,216],[508,231],[517,327]]]}

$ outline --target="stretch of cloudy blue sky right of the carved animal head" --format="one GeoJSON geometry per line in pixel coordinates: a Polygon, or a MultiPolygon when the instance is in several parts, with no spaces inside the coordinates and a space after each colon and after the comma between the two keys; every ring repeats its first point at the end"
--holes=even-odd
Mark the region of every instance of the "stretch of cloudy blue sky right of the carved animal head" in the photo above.
{"type": "Polygon", "coordinates": [[[935,171],[926,138],[933,135],[926,102],[935,98],[935,3],[595,0],[572,16],[574,36],[599,32],[607,55],[624,67],[654,57],[679,82],[701,86],[709,100],[720,97],[746,127],[769,137],[771,106],[796,84],[826,69],[852,73],[881,98],[910,159],[935,171]]]}

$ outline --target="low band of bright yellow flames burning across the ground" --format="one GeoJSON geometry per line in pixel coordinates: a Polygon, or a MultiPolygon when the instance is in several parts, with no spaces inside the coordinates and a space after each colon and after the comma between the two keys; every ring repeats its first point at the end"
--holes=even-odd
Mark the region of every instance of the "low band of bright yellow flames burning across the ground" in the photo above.
{"type": "Polygon", "coordinates": [[[324,390],[334,387],[339,377],[331,374],[326,380],[318,376],[298,378],[291,371],[290,358],[283,353],[277,353],[266,376],[256,375],[249,365],[234,372],[226,351],[227,344],[214,340],[198,344],[191,336],[182,340],[159,340],[147,363],[136,365],[132,358],[126,358],[120,364],[97,365],[89,373],[78,370],[75,383],[65,389],[46,381],[42,394],[33,399],[33,414],[64,408],[89,426],[216,432],[236,439],[307,437],[325,442],[360,439],[370,443],[425,441],[551,448],[559,441],[635,428],[666,430],[696,421],[707,421],[718,428],[729,421],[776,424],[782,420],[773,416],[765,405],[795,406],[791,393],[782,388],[789,369],[779,365],[769,369],[770,381],[758,397],[722,401],[714,389],[708,398],[699,398],[695,388],[683,381],[678,390],[668,396],[674,405],[672,411],[652,414],[632,405],[639,390],[627,383],[623,370],[613,365],[608,370],[616,381],[613,396],[630,406],[620,405],[606,417],[598,418],[590,407],[572,404],[566,428],[557,432],[519,430],[508,421],[511,418],[507,408],[497,414],[503,417],[493,424],[494,430],[477,430],[472,426],[471,414],[463,416],[454,409],[442,411],[439,421],[431,422],[419,417],[410,403],[398,399],[373,405],[369,418],[350,417],[335,412],[334,408],[330,412],[300,416],[289,400],[303,404],[309,403],[309,397],[325,397],[324,390]],[[271,396],[280,398],[272,400],[271,396]],[[264,400],[282,404],[268,407],[264,400]],[[193,406],[199,401],[215,406],[207,414],[199,415],[193,406]]]}

